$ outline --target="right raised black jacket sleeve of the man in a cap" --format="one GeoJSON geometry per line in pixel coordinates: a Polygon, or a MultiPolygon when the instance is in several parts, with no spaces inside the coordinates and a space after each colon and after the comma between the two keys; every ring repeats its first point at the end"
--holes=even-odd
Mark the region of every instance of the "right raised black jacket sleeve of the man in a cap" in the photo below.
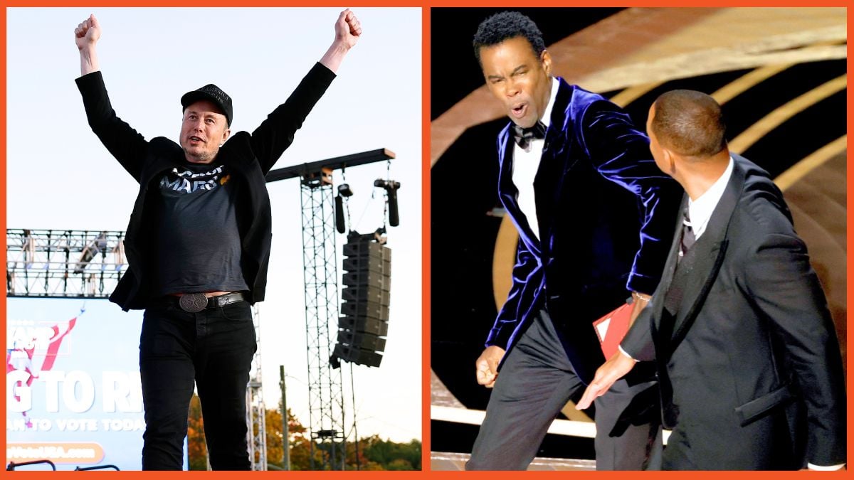
{"type": "Polygon", "coordinates": [[[293,143],[294,134],[335,77],[329,68],[316,63],[290,97],[267,115],[266,120],[252,132],[252,148],[262,173],[269,172],[284,150],[293,143]]]}

